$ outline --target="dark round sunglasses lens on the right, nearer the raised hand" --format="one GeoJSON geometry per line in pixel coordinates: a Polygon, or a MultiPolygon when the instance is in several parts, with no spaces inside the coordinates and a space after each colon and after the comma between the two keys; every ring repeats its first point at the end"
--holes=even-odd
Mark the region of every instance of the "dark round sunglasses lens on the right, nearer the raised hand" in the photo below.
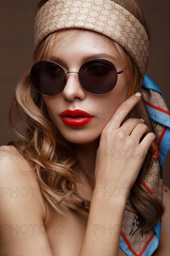
{"type": "Polygon", "coordinates": [[[116,85],[116,67],[107,60],[87,61],[79,70],[79,80],[83,88],[92,94],[105,94],[116,85]]]}

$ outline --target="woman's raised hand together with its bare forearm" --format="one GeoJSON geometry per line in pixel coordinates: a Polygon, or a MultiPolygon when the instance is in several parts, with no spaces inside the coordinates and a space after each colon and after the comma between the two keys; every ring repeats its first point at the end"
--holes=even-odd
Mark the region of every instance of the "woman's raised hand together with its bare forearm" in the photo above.
{"type": "Polygon", "coordinates": [[[128,119],[122,124],[140,99],[139,94],[124,101],[102,131],[96,157],[95,188],[80,255],[106,255],[106,252],[118,255],[127,197],[155,139],[155,134],[150,133],[140,119],[128,119]],[[121,118],[116,121],[118,116],[121,118]],[[112,227],[111,232],[108,227],[112,227]]]}

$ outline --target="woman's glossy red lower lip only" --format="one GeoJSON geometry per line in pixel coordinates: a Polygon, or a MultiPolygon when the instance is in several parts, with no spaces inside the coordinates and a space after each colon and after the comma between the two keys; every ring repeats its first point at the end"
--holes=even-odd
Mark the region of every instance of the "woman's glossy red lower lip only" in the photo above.
{"type": "Polygon", "coordinates": [[[94,117],[79,117],[79,118],[70,118],[70,117],[61,117],[61,121],[68,125],[74,127],[82,127],[88,123],[90,123],[94,117]]]}

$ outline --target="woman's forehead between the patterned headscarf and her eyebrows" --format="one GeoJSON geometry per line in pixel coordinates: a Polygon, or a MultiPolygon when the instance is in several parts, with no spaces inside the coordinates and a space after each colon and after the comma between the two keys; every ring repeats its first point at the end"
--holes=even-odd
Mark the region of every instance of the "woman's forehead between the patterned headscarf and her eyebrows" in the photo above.
{"type": "MultiPolygon", "coordinates": [[[[110,54],[118,59],[118,52],[111,40],[100,33],[87,29],[63,29],[53,34],[51,55],[72,56],[86,54],[110,54]]],[[[104,55],[105,56],[105,55],[104,55]]]]}

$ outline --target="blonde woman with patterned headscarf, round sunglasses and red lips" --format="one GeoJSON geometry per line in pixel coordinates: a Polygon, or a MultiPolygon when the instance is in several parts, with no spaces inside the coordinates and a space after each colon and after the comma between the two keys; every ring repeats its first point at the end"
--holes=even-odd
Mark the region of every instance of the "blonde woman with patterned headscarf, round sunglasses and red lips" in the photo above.
{"type": "Polygon", "coordinates": [[[168,254],[137,2],[41,0],[35,15],[33,66],[10,113],[28,120],[1,147],[2,255],[168,254]]]}

